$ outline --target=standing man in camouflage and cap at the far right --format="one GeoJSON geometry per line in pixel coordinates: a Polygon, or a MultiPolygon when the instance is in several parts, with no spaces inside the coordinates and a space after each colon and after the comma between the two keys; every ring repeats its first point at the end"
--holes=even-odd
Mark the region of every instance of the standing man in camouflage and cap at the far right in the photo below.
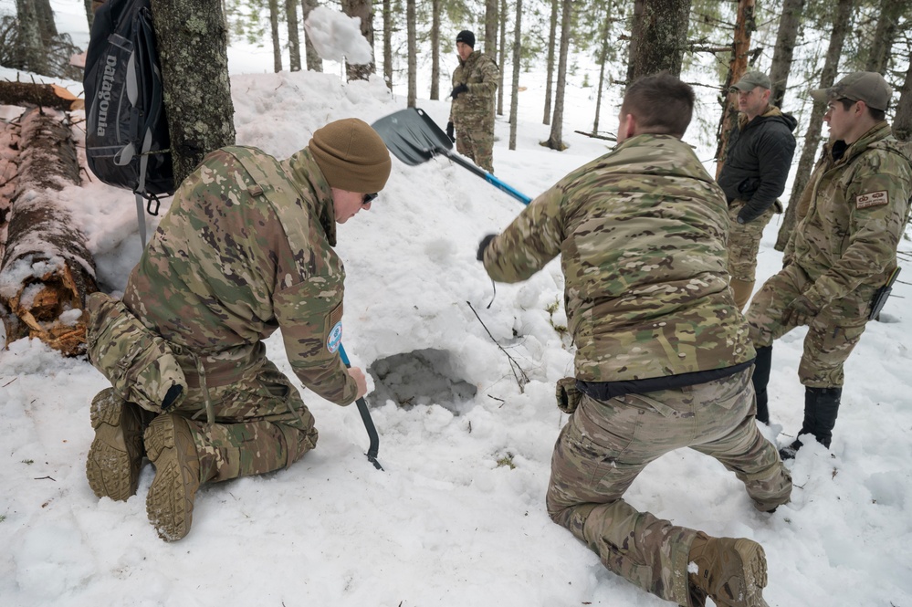
{"type": "MultiPolygon", "coordinates": [[[[896,246],[909,216],[912,169],[884,120],[893,89],[876,72],[854,72],[811,91],[827,104],[830,145],[801,198],[801,218],[785,267],[748,309],[757,347],[753,382],[767,400],[772,343],[807,325],[798,377],[809,434],[829,448],[843,390],[843,365],[872,316],[875,294],[896,270],[896,246]]],[[[796,439],[781,450],[794,457],[796,439]]]]}

